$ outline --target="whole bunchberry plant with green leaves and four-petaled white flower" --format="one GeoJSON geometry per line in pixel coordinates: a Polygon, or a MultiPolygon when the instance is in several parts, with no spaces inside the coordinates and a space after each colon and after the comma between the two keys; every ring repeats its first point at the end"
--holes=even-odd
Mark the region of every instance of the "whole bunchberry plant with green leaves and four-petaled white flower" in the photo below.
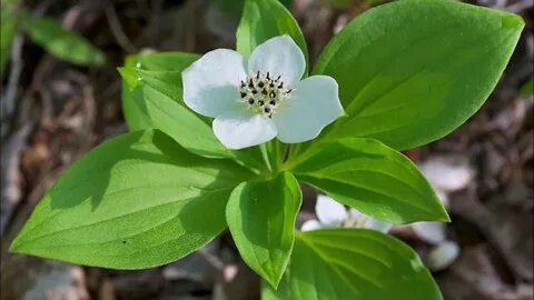
{"type": "Polygon", "coordinates": [[[130,132],[58,180],[11,251],[142,269],[228,228],[264,299],[442,299],[415,252],[388,234],[297,231],[299,184],[389,223],[448,221],[399,151],[465,122],[522,29],[503,11],[399,0],[357,17],[310,66],[285,7],[247,0],[237,52],[127,58],[130,132]]]}

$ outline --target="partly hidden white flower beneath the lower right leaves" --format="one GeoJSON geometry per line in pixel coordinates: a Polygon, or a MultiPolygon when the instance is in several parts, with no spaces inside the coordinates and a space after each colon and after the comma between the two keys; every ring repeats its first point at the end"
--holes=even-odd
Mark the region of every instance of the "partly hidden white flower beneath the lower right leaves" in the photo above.
{"type": "Polygon", "coordinates": [[[339,202],[328,196],[319,194],[315,204],[315,213],[318,220],[308,220],[300,228],[303,231],[317,230],[322,228],[366,228],[387,232],[390,223],[376,220],[367,214],[350,208],[348,211],[339,202]]]}

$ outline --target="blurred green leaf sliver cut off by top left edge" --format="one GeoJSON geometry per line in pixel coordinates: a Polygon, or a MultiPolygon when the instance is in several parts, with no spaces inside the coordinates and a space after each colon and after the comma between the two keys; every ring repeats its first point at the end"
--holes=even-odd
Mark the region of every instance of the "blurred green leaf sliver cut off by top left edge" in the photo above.
{"type": "Polygon", "coordinates": [[[17,32],[17,14],[13,1],[1,1],[0,10],[0,77],[11,57],[11,46],[17,32]]]}

